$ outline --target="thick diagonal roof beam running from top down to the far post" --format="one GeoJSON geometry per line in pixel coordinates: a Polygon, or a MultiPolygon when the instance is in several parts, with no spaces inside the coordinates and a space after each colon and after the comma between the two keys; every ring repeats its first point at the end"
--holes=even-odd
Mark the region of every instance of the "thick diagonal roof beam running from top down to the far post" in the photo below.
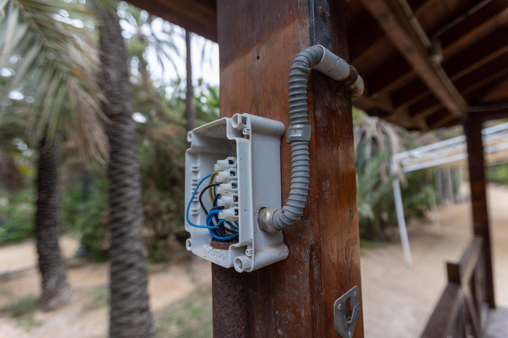
{"type": "Polygon", "coordinates": [[[454,116],[461,116],[466,103],[439,64],[431,62],[422,33],[411,24],[399,1],[362,0],[386,31],[392,43],[418,73],[429,90],[454,116]]]}

